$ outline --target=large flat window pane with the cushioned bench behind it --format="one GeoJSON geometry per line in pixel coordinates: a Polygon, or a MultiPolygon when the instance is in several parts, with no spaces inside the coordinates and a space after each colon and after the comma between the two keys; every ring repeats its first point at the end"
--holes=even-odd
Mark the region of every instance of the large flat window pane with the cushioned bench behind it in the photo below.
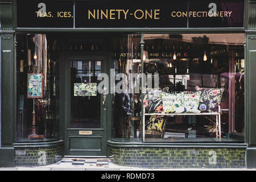
{"type": "Polygon", "coordinates": [[[144,35],[144,73],[159,77],[159,88],[143,94],[145,142],[241,141],[244,40],[244,34],[144,35]]]}

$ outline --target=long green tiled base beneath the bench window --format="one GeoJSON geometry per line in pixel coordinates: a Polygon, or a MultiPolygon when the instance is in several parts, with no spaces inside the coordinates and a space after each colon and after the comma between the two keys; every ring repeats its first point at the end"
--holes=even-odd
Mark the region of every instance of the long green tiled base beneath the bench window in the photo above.
{"type": "Polygon", "coordinates": [[[140,168],[245,168],[245,148],[112,147],[112,163],[140,168]]]}

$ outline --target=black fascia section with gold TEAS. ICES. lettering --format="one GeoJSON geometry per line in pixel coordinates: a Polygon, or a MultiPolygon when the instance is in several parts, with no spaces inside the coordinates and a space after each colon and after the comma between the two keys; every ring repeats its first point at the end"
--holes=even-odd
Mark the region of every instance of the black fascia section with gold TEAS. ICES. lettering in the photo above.
{"type": "Polygon", "coordinates": [[[18,0],[17,27],[73,28],[73,2],[18,0]]]}

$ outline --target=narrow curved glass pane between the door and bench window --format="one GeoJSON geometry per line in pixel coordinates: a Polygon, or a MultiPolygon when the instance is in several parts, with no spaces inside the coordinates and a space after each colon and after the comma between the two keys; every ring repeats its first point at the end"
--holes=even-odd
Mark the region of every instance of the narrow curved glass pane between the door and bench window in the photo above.
{"type": "Polygon", "coordinates": [[[135,90],[139,84],[136,85],[130,77],[141,75],[140,42],[139,34],[113,37],[112,72],[115,85],[110,90],[113,100],[112,140],[115,141],[141,142],[141,90],[135,90]],[[117,76],[122,78],[117,79],[117,76]],[[117,90],[120,82],[123,82],[121,93],[117,90]]]}

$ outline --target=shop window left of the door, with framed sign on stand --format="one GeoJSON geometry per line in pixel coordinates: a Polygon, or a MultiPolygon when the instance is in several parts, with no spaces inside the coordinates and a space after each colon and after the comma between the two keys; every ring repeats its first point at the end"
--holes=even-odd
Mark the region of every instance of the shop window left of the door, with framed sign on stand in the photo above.
{"type": "Polygon", "coordinates": [[[16,142],[59,138],[59,44],[44,34],[16,35],[16,142]]]}

